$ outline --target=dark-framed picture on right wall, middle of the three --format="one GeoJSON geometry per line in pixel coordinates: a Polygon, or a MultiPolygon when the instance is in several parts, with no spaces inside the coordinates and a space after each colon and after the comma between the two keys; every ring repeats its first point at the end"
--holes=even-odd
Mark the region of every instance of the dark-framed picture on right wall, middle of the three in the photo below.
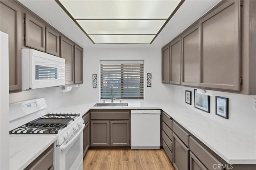
{"type": "Polygon", "coordinates": [[[210,113],[210,96],[199,94],[196,89],[194,89],[194,104],[197,109],[210,113]]]}

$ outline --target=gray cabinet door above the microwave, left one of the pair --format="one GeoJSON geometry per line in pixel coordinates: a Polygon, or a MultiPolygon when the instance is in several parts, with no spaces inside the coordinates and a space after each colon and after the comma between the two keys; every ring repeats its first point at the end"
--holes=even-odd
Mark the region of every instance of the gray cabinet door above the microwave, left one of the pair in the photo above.
{"type": "Polygon", "coordinates": [[[26,41],[25,45],[45,52],[45,24],[26,13],[26,41]]]}

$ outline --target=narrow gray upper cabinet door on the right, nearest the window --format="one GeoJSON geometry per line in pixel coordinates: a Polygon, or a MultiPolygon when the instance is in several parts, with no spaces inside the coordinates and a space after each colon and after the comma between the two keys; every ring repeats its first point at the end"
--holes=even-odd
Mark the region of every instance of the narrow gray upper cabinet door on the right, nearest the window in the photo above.
{"type": "Polygon", "coordinates": [[[162,48],[162,83],[170,82],[170,48],[166,45],[162,48]]]}

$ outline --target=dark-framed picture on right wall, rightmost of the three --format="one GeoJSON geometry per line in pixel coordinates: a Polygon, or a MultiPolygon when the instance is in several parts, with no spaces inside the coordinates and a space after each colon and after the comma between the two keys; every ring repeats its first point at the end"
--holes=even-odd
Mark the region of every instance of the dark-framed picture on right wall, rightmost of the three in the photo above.
{"type": "Polygon", "coordinates": [[[215,96],[215,114],[228,119],[228,98],[215,96]]]}

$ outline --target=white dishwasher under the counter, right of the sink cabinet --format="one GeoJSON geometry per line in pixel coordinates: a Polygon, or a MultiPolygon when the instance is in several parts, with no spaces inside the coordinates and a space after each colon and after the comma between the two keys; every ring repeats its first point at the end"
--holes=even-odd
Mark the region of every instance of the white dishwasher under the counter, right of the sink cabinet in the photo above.
{"type": "Polygon", "coordinates": [[[131,149],[160,149],[160,110],[131,110],[131,149]]]}

